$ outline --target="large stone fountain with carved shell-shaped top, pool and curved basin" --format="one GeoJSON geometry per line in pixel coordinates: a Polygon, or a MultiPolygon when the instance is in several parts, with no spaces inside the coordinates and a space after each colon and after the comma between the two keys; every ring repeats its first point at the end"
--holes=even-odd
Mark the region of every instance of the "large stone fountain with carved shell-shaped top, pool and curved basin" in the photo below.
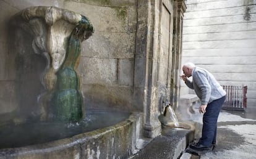
{"type": "Polygon", "coordinates": [[[134,152],[142,113],[85,112],[77,67],[81,43],[94,31],[88,18],[37,6],[14,15],[10,24],[16,100],[25,110],[1,123],[0,158],[108,158],[134,152]],[[35,107],[33,113],[26,105],[35,107]]]}

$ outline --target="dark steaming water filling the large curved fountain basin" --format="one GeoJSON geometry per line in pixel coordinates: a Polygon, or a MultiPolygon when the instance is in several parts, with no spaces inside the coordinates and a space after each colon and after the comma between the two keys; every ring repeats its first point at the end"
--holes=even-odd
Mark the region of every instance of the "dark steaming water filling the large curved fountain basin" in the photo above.
{"type": "Polygon", "coordinates": [[[80,123],[26,123],[0,128],[0,149],[41,144],[83,132],[106,128],[126,120],[130,113],[87,112],[80,123]]]}

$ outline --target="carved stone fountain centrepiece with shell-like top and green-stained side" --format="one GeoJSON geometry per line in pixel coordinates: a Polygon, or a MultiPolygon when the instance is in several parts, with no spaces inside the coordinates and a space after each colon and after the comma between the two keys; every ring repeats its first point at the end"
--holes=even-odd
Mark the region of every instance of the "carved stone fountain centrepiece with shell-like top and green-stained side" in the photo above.
{"type": "MultiPolygon", "coordinates": [[[[58,7],[38,6],[19,12],[11,25],[28,33],[32,37],[33,52],[46,59],[40,78],[45,92],[40,92],[37,97],[40,120],[79,121],[85,112],[77,67],[81,43],[94,31],[88,18],[58,7]]],[[[26,59],[28,49],[25,46],[23,49],[25,53],[20,51],[19,57],[26,59]]],[[[23,101],[22,97],[19,101],[23,101]]],[[[22,104],[27,102],[20,102],[22,104]]]]}

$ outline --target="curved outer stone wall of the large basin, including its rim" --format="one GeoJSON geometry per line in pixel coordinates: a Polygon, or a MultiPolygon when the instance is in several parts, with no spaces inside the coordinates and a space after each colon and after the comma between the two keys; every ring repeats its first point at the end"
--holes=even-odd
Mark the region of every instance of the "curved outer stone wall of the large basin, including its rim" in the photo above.
{"type": "Polygon", "coordinates": [[[56,141],[0,149],[0,158],[126,158],[135,150],[142,116],[142,113],[134,112],[125,120],[105,128],[56,141]]]}

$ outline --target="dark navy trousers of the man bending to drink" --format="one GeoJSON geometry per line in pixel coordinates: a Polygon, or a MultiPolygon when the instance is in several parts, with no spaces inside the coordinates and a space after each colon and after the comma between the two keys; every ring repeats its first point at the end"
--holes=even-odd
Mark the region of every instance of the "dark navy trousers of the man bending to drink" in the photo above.
{"type": "Polygon", "coordinates": [[[207,105],[206,112],[203,114],[202,137],[199,144],[207,147],[216,144],[218,116],[225,98],[226,96],[213,100],[207,105]]]}

